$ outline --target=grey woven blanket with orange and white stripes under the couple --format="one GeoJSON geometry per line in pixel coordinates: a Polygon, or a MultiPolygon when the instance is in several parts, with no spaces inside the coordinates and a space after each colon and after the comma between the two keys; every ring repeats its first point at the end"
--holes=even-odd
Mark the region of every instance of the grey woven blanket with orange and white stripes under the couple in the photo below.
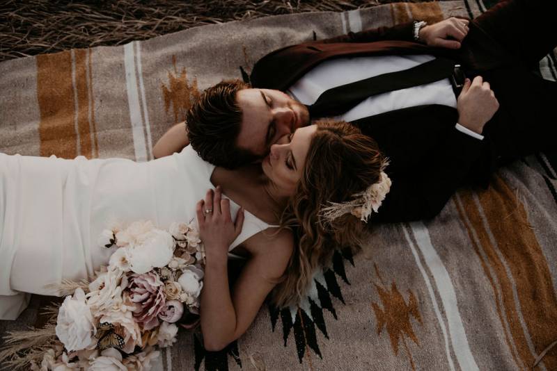
{"type": "MultiPolygon", "coordinates": [[[[288,44],[411,19],[475,17],[493,1],[392,3],[191,28],[123,47],[0,64],[0,151],[152,159],[199,92],[246,78],[288,44]]],[[[555,53],[540,63],[557,77],[555,53]]],[[[222,352],[196,333],[157,370],[526,370],[557,340],[557,154],[503,167],[488,190],[459,190],[427,222],[378,226],[336,254],[297,308],[261,308],[222,352]]],[[[40,300],[0,333],[33,324],[40,300]]],[[[557,370],[557,347],[537,366],[557,370]]]]}

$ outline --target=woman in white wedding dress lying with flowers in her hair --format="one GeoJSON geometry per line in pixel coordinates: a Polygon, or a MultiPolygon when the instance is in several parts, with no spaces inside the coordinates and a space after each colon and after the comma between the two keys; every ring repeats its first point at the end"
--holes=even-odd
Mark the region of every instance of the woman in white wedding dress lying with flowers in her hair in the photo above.
{"type": "Polygon", "coordinates": [[[0,154],[0,319],[17,318],[29,293],[53,295],[49,283],[106,265],[114,247],[97,242],[104,229],[197,220],[203,341],[223,349],[269,292],[278,306],[297,302],[336,246],[358,245],[360,220],[381,201],[370,195],[389,190],[384,165],[375,142],[345,122],[297,129],[261,164],[238,170],[214,167],[191,147],[148,163],[0,154]],[[232,290],[230,257],[246,259],[232,290]]]}

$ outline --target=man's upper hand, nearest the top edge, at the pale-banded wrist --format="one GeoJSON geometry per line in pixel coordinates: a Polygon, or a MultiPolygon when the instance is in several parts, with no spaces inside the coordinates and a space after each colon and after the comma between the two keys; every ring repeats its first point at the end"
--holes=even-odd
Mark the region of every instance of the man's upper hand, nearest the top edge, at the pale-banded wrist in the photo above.
{"type": "Polygon", "coordinates": [[[460,49],[460,43],[468,34],[468,23],[467,19],[450,17],[424,26],[420,30],[420,40],[430,47],[460,49]]]}

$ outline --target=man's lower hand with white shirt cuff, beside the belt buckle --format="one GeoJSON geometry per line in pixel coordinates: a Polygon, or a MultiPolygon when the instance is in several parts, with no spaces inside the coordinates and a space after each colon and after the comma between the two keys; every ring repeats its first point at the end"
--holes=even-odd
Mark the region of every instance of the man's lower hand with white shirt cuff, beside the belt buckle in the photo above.
{"type": "Polygon", "coordinates": [[[470,79],[464,81],[462,92],[457,99],[459,124],[481,134],[483,126],[498,109],[499,101],[489,87],[489,83],[483,81],[482,76],[476,76],[472,82],[470,79]]]}

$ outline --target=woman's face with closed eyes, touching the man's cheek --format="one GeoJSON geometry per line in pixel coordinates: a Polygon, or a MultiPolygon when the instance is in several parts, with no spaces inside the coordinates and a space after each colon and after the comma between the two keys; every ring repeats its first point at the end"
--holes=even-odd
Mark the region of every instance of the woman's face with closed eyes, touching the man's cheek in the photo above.
{"type": "Polygon", "coordinates": [[[284,135],[263,158],[262,170],[281,196],[290,196],[295,190],[306,164],[311,138],[316,125],[305,126],[284,135]]]}

